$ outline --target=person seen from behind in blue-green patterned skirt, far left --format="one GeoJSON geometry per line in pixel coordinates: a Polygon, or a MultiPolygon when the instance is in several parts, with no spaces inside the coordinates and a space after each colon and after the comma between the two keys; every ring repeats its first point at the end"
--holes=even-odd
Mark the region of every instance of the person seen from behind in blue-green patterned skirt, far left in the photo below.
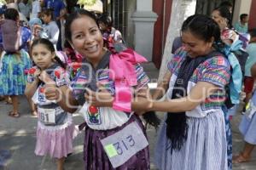
{"type": "Polygon", "coordinates": [[[30,40],[29,32],[19,26],[19,13],[14,8],[6,9],[5,20],[1,24],[3,36],[3,54],[0,62],[0,95],[10,96],[13,111],[9,116],[19,117],[18,96],[24,94],[26,87],[26,71],[32,62],[23,49],[30,40]]]}

